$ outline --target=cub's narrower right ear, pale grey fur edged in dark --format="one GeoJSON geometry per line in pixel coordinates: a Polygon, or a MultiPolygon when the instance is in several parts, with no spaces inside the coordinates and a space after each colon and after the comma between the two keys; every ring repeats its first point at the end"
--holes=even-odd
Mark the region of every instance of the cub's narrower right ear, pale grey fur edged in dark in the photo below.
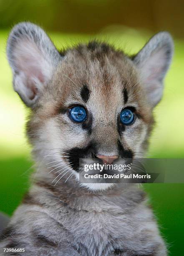
{"type": "Polygon", "coordinates": [[[171,63],[173,49],[174,44],[170,34],[160,32],[153,36],[133,58],[152,107],[161,100],[163,80],[171,63]]]}

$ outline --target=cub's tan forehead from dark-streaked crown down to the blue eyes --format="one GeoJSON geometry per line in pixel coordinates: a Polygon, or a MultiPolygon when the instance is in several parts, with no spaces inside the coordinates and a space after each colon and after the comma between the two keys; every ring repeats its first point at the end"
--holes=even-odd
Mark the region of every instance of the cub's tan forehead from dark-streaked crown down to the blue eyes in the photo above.
{"type": "Polygon", "coordinates": [[[131,59],[111,47],[92,46],[78,46],[63,55],[40,100],[44,106],[40,111],[49,117],[66,113],[73,105],[83,105],[98,117],[108,113],[113,118],[126,107],[149,112],[131,59]]]}

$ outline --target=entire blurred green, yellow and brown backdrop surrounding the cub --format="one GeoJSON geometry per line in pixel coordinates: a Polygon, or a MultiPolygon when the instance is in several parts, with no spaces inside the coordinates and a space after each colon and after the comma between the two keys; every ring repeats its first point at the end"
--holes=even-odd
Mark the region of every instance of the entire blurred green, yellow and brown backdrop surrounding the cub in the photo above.
{"type": "MultiPolygon", "coordinates": [[[[171,0],[0,0],[0,210],[11,215],[33,172],[26,141],[28,110],[12,89],[5,55],[10,28],[30,20],[43,26],[61,49],[97,38],[134,54],[154,33],[174,37],[174,60],[165,80],[150,157],[184,157],[184,1],[171,0]]],[[[184,255],[184,184],[146,184],[170,255],[184,255]]]]}

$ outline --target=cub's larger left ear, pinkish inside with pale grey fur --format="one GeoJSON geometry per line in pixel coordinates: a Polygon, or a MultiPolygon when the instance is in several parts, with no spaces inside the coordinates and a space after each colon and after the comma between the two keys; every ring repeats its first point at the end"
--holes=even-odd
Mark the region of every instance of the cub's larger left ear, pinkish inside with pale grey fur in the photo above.
{"type": "Polygon", "coordinates": [[[34,108],[61,59],[59,52],[40,27],[23,22],[10,33],[7,56],[14,90],[27,106],[34,108]]]}

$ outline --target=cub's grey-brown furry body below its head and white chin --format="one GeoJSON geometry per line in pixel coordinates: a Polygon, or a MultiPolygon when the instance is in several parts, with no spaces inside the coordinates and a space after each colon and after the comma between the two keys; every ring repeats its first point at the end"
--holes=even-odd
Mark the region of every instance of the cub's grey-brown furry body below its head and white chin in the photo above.
{"type": "Polygon", "coordinates": [[[37,182],[10,226],[15,231],[1,246],[17,244],[26,256],[166,255],[144,192],[131,185],[94,194],[73,181],[58,188],[37,182]]]}

